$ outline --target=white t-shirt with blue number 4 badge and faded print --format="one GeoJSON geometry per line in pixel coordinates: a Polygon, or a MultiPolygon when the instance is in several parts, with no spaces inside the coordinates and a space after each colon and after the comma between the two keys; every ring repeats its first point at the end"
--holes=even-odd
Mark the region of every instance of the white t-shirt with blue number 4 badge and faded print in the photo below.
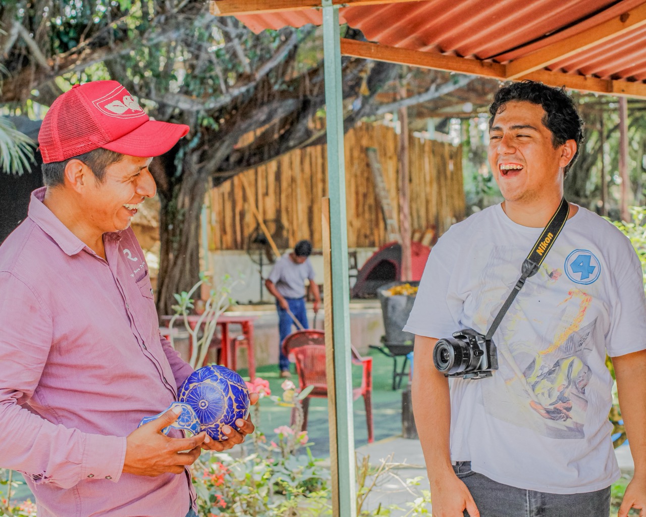
{"type": "MultiPolygon", "coordinates": [[[[453,225],[433,247],[404,330],[485,334],[541,232],[500,205],[453,225]]],[[[629,239],[579,207],[494,343],[492,377],[452,379],[451,459],[499,483],[555,494],[617,480],[605,355],[646,348],[643,277],[629,239]]]]}

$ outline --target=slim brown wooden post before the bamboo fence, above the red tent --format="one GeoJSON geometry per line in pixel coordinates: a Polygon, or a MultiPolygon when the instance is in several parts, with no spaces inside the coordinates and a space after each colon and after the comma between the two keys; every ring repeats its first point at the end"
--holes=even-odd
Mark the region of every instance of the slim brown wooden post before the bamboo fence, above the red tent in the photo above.
{"type": "MultiPolygon", "coordinates": [[[[406,88],[399,92],[401,98],[406,98],[406,88]]],[[[399,111],[399,233],[402,243],[401,280],[408,282],[413,277],[410,250],[410,167],[408,153],[408,109],[399,111]]]]}

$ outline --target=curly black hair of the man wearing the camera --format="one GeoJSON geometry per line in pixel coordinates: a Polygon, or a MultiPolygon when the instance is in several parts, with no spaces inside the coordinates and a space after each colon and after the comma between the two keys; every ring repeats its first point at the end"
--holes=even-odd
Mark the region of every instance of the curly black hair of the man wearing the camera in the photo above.
{"type": "Polygon", "coordinates": [[[496,92],[494,101],[489,107],[491,114],[489,128],[493,127],[498,111],[504,111],[505,104],[510,101],[531,102],[543,108],[545,111],[543,125],[552,132],[554,149],[563,145],[567,140],[576,142],[576,153],[565,167],[565,174],[567,174],[567,171],[576,162],[581,145],[583,145],[583,120],[579,116],[574,101],[565,92],[565,89],[553,88],[528,80],[502,87],[496,92]]]}

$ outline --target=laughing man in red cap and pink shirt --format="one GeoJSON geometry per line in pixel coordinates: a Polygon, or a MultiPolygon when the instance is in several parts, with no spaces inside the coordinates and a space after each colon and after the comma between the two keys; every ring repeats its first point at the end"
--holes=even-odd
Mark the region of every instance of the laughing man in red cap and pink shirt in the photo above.
{"type": "Polygon", "coordinates": [[[0,246],[0,467],[23,473],[39,517],[196,517],[187,467],[254,430],[165,436],[172,410],[137,428],[193,372],[160,336],[130,229],[155,195],[152,157],[188,131],[116,81],[76,85],[43,120],[46,186],[0,246]]]}

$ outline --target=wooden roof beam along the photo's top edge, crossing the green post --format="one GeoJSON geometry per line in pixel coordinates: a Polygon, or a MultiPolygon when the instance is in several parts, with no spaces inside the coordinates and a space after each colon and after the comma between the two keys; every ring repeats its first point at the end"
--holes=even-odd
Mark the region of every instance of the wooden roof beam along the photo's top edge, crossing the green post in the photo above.
{"type": "MultiPolygon", "coordinates": [[[[332,0],[333,5],[387,5],[420,0],[332,0]]],[[[211,0],[209,11],[214,16],[237,16],[239,14],[262,14],[278,11],[299,11],[321,6],[320,0],[211,0]]]]}

